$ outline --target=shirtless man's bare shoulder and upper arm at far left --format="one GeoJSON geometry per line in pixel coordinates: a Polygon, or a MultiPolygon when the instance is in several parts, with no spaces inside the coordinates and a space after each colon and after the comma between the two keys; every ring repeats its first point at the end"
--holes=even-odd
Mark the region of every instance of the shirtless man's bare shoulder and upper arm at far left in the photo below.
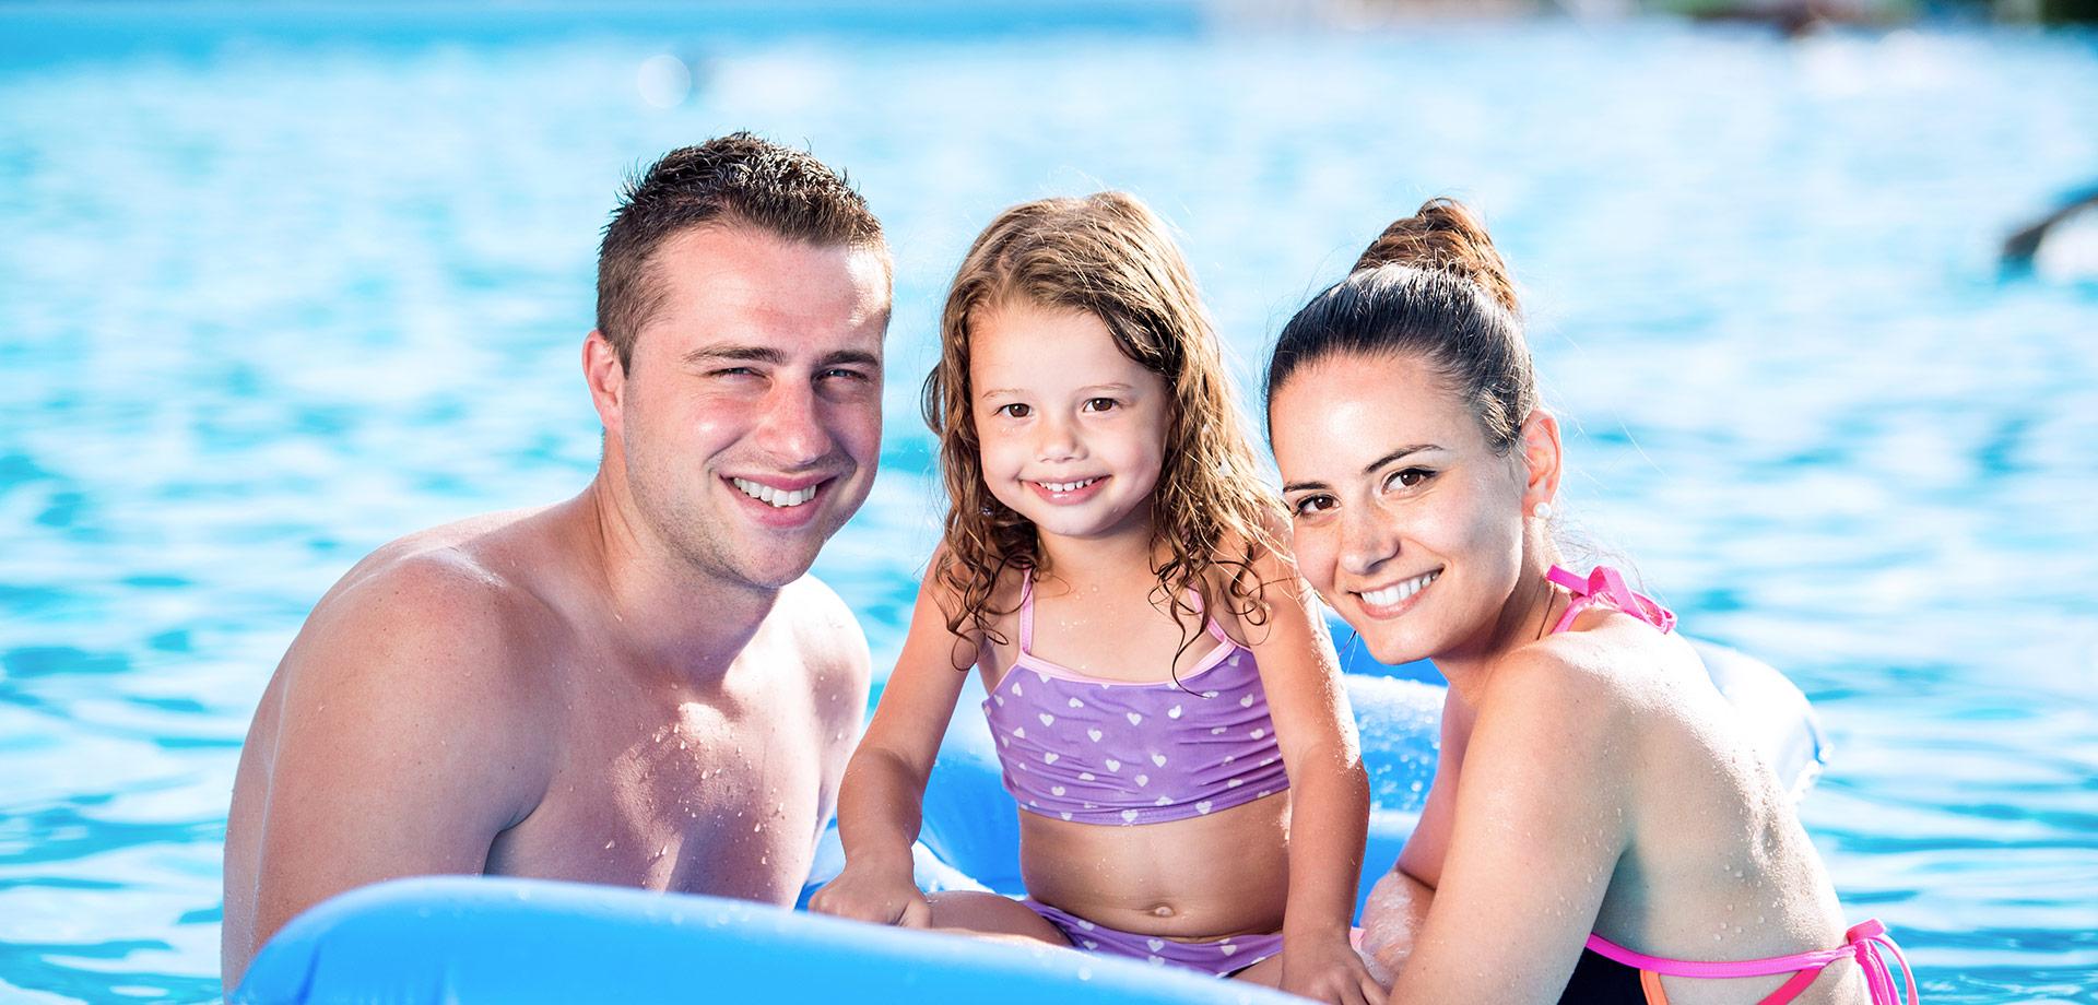
{"type": "MultiPolygon", "coordinates": [[[[407,875],[480,873],[545,791],[518,728],[543,697],[516,598],[409,558],[336,590],[277,667],[235,781],[224,982],[300,911],[407,875]],[[527,657],[529,659],[529,657],[527,657]],[[245,810],[245,812],[241,812],[245,810]],[[233,858],[233,837],[243,854],[233,858]]],[[[548,659],[541,648],[537,659],[548,659]]]]}

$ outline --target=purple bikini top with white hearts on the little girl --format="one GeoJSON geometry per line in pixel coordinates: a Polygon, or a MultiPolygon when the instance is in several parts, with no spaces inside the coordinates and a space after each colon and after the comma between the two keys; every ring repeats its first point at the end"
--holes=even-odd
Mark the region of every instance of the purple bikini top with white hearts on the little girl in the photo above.
{"type": "Polygon", "coordinates": [[[1179,684],[1059,667],[1034,646],[1034,577],[1020,587],[1020,657],[990,688],[1005,791],[1020,808],[1087,825],[1204,816],[1290,787],[1253,650],[1208,619],[1219,646],[1179,684]]]}

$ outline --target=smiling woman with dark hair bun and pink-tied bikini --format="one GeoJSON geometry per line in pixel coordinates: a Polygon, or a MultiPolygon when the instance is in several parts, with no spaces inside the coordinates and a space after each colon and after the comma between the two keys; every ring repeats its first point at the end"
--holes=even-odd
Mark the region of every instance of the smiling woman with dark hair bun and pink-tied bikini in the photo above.
{"type": "Polygon", "coordinates": [[[1267,418],[1311,585],[1376,659],[1450,678],[1420,825],[1364,911],[1393,1003],[1894,1001],[1899,950],[1844,927],[1674,615],[1559,569],[1559,424],[1462,206],[1391,224],[1284,327],[1267,418]]]}

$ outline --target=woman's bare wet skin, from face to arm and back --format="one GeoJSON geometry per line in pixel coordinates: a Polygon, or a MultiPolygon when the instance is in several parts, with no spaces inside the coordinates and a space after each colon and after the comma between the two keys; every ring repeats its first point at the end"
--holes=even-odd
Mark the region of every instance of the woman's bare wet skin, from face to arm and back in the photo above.
{"type": "MultiPolygon", "coordinates": [[[[1546,634],[1569,600],[1529,516],[1561,472],[1546,411],[1496,453],[1418,359],[1339,355],[1276,388],[1269,426],[1305,577],[1380,661],[1450,678],[1420,825],[1364,913],[1391,1001],[1555,1001],[1590,929],[1674,959],[1840,944],[1821,860],[1697,655],[1609,608],[1546,634]]],[[[1783,980],[1664,986],[1720,1005],[1783,980]]],[[[1798,1001],[1863,995],[1844,961],[1798,1001]]]]}

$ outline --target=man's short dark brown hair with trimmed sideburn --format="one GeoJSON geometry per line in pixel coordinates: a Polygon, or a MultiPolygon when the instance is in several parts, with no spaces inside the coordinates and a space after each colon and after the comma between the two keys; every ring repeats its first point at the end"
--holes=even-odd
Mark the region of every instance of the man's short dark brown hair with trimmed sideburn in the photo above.
{"type": "Polygon", "coordinates": [[[598,332],[634,365],[634,338],[661,306],[650,275],[657,248],[707,224],[745,224],[816,245],[873,248],[887,256],[881,222],[808,151],[732,132],[663,155],[627,178],[598,248],[598,332]]]}

